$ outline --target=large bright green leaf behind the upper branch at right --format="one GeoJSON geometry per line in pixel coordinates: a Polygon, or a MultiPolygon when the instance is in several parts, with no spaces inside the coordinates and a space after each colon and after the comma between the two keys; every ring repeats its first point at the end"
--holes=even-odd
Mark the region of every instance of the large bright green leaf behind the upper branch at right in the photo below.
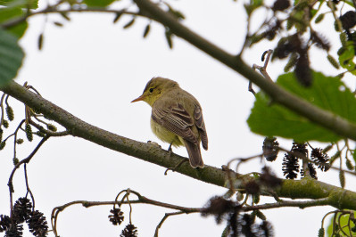
{"type": "MultiPolygon", "coordinates": [[[[281,75],[277,85],[298,95],[320,109],[328,110],[352,122],[356,121],[356,99],[349,88],[338,78],[326,77],[319,72],[312,72],[313,84],[305,88],[299,85],[294,73],[281,75]]],[[[247,120],[251,130],[260,135],[293,138],[297,142],[319,141],[336,142],[340,136],[327,128],[310,122],[310,120],[278,104],[269,105],[266,94],[256,94],[256,102],[247,120]]]]}

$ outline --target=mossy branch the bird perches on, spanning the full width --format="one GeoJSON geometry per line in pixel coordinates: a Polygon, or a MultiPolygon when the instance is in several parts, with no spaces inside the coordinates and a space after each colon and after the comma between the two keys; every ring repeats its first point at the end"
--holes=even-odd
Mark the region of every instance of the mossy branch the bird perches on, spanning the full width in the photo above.
{"type": "MultiPolygon", "coordinates": [[[[14,81],[0,87],[0,90],[61,124],[69,131],[70,135],[81,137],[92,143],[143,159],[164,168],[175,167],[182,159],[186,159],[174,153],[169,155],[168,151],[162,150],[151,143],[140,143],[92,126],[14,81]]],[[[211,166],[205,166],[203,169],[191,168],[188,162],[183,163],[176,171],[185,176],[221,187],[228,187],[228,184],[230,184],[227,176],[227,172],[229,172],[229,176],[234,178],[233,182],[236,189],[244,189],[244,184],[253,179],[252,176],[242,176],[233,171],[211,166]]],[[[323,200],[323,205],[340,209],[356,209],[356,192],[344,190],[308,177],[302,180],[284,180],[281,187],[275,192],[280,198],[323,200]],[[325,201],[325,199],[328,201],[325,201]]],[[[264,191],[261,194],[271,195],[268,191],[264,191]]]]}

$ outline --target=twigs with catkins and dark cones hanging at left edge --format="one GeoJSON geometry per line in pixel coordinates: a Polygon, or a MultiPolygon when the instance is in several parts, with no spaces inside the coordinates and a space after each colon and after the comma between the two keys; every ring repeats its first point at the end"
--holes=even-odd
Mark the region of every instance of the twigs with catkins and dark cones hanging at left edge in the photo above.
{"type": "MultiPolygon", "coordinates": [[[[40,96],[37,90],[33,86],[25,85],[23,86],[26,90],[32,90],[36,94],[40,96]]],[[[68,135],[66,131],[64,132],[56,132],[57,128],[46,121],[46,117],[31,109],[28,105],[25,104],[25,118],[22,119],[19,125],[14,129],[12,134],[7,135],[4,139],[2,139],[4,135],[4,129],[9,128],[9,121],[14,121],[14,111],[9,102],[9,94],[3,94],[0,101],[1,108],[1,123],[0,123],[0,142],[1,142],[1,150],[5,148],[6,142],[8,142],[11,138],[13,138],[13,165],[12,173],[9,177],[8,186],[10,193],[10,215],[1,215],[0,216],[0,232],[4,232],[5,236],[21,236],[22,235],[22,224],[26,222],[29,225],[29,232],[33,233],[35,236],[46,236],[48,231],[48,226],[46,223],[46,217],[44,217],[43,213],[39,212],[35,209],[35,197],[33,192],[31,192],[29,188],[29,178],[27,172],[27,165],[30,160],[35,156],[37,151],[41,148],[41,146],[48,140],[50,136],[61,136],[68,135]],[[5,108],[5,109],[4,109],[5,108]],[[4,110],[6,111],[6,116],[8,120],[4,119],[4,110]],[[45,119],[42,119],[45,118],[45,119]],[[43,126],[46,126],[44,128],[43,126]],[[37,132],[32,131],[32,127],[37,129],[37,132]],[[33,135],[37,135],[41,137],[39,143],[34,148],[34,150],[29,154],[28,157],[24,159],[19,159],[17,154],[18,145],[24,143],[22,138],[19,138],[23,133],[29,142],[33,141],[33,135]],[[13,176],[18,168],[23,166],[24,168],[24,177],[25,177],[25,185],[26,185],[26,194],[24,197],[19,198],[13,204],[13,196],[14,187],[12,184],[13,176]],[[30,199],[28,199],[30,196],[30,199]]]]}

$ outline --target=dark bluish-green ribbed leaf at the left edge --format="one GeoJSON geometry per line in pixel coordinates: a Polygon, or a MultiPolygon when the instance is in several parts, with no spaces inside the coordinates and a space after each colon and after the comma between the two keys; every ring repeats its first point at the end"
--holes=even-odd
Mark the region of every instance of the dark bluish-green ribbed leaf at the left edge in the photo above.
{"type": "Polygon", "coordinates": [[[24,53],[17,41],[12,34],[0,29],[0,86],[15,78],[21,67],[24,53]]]}

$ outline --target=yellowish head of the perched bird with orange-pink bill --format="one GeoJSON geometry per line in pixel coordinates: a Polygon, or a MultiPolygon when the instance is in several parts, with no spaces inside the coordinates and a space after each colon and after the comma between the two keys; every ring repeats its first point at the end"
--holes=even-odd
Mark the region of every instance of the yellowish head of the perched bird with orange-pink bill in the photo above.
{"type": "Polygon", "coordinates": [[[152,78],[147,82],[144,93],[132,102],[144,101],[153,106],[153,103],[157,101],[162,94],[178,87],[178,83],[173,80],[167,78],[152,78]]]}

